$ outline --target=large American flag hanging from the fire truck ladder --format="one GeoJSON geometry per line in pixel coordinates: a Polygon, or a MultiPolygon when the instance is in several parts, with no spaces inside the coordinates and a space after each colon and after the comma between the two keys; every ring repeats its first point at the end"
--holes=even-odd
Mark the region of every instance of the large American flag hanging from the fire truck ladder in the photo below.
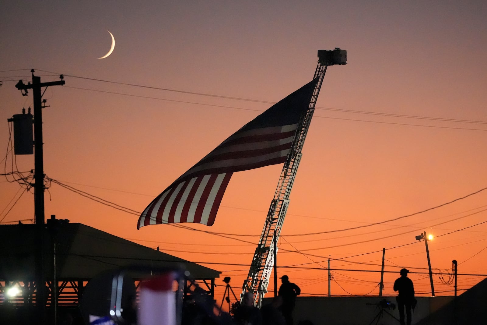
{"type": "Polygon", "coordinates": [[[142,212],[137,229],[193,222],[213,225],[233,172],[286,161],[317,79],[257,116],[176,179],[142,212]]]}

